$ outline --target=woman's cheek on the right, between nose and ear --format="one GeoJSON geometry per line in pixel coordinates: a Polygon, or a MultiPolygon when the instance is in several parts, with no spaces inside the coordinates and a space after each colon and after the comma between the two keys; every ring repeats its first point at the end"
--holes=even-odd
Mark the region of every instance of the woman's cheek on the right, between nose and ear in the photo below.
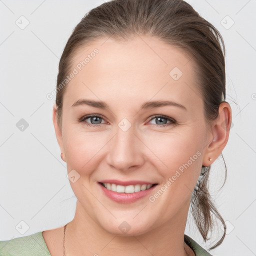
{"type": "Polygon", "coordinates": [[[193,187],[202,164],[202,132],[202,129],[189,127],[157,138],[147,137],[146,145],[154,153],[151,163],[165,180],[173,177],[173,180],[178,179],[193,187]]]}

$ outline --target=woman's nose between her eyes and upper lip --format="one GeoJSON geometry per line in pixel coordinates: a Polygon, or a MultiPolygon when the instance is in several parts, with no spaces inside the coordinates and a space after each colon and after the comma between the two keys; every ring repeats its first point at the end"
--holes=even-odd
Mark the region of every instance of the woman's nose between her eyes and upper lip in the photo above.
{"type": "Polygon", "coordinates": [[[106,160],[111,167],[130,171],[143,165],[145,146],[132,126],[126,131],[117,126],[116,134],[108,144],[106,160]]]}

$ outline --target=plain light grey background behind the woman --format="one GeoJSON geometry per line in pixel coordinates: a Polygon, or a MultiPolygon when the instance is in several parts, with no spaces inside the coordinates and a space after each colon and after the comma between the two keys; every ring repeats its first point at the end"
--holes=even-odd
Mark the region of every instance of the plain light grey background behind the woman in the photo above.
{"type": "MultiPolygon", "coordinates": [[[[211,253],[256,255],[256,1],[187,1],[224,38],[226,100],[232,107],[233,126],[223,150],[228,176],[220,191],[221,159],[212,164],[210,176],[212,197],[228,234],[211,253]]],[[[54,98],[48,100],[46,94],[54,90],[58,61],[72,29],[102,2],[0,1],[0,240],[56,228],[73,218],[76,198],[51,120],[54,98]]],[[[186,233],[205,246],[192,222],[186,233]]]]}

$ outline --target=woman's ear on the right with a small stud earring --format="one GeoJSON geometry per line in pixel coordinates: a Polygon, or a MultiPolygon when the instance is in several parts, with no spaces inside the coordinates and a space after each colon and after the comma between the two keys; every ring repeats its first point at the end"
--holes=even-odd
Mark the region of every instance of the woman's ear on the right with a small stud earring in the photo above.
{"type": "Polygon", "coordinates": [[[224,101],[218,107],[218,116],[212,121],[211,131],[208,137],[202,164],[210,165],[224,149],[231,126],[232,113],[230,105],[224,101]],[[209,160],[209,159],[212,160],[209,160]]]}

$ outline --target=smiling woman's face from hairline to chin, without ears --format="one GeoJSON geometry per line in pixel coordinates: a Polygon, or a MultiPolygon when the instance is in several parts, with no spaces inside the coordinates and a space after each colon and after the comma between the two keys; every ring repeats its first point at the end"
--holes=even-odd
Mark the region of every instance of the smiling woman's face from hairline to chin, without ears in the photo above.
{"type": "Polygon", "coordinates": [[[191,56],[146,35],[104,38],[72,68],[58,142],[79,214],[118,235],[185,217],[210,136],[191,56]]]}

